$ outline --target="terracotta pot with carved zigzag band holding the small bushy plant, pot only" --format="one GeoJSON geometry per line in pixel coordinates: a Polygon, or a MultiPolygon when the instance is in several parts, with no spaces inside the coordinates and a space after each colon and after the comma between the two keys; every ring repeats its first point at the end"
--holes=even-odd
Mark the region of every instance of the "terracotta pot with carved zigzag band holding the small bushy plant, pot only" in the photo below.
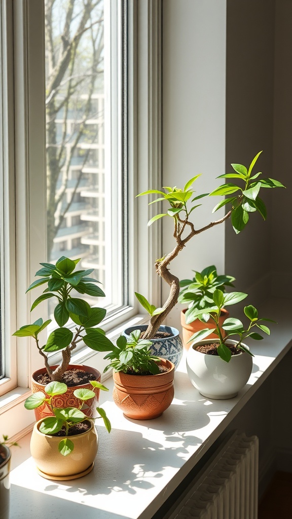
{"type": "Polygon", "coordinates": [[[113,399],[125,416],[149,420],[160,416],[174,398],[175,365],[166,359],[161,364],[169,368],[157,375],[127,375],[113,373],[113,399]]]}

